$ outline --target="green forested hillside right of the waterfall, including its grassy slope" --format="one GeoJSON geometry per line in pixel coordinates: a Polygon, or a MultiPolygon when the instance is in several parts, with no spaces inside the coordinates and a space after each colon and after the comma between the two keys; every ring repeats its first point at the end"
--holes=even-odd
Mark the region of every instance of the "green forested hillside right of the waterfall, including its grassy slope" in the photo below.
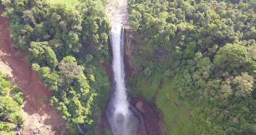
{"type": "Polygon", "coordinates": [[[134,95],[153,99],[165,135],[256,131],[256,1],[129,0],[140,37],[134,95]],[[158,82],[158,83],[157,83],[158,82]]]}

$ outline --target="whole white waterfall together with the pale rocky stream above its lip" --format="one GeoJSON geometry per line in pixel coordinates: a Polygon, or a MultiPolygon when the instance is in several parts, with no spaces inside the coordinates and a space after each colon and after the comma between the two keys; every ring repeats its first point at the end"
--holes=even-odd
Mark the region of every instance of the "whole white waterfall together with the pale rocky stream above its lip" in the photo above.
{"type": "Polygon", "coordinates": [[[126,0],[112,0],[108,10],[112,29],[110,43],[112,48],[113,92],[107,107],[108,123],[113,135],[137,135],[138,119],[129,110],[129,101],[124,83],[124,27],[128,26],[126,0]]]}

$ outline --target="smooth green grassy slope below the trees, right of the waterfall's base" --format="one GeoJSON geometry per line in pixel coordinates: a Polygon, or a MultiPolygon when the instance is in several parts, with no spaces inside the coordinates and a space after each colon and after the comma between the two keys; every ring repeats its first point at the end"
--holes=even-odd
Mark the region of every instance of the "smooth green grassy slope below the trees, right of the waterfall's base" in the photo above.
{"type": "Polygon", "coordinates": [[[164,135],[196,135],[199,123],[197,103],[180,99],[172,86],[172,81],[165,82],[156,98],[156,106],[164,116],[164,135]]]}

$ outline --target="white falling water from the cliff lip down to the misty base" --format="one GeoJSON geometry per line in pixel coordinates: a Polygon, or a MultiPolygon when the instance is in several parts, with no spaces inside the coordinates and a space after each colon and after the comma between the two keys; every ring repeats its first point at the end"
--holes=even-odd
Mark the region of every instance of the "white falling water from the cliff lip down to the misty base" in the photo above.
{"type": "Polygon", "coordinates": [[[138,120],[129,110],[124,84],[124,31],[122,25],[113,26],[110,33],[114,93],[108,103],[108,122],[113,135],[136,135],[138,120]]]}

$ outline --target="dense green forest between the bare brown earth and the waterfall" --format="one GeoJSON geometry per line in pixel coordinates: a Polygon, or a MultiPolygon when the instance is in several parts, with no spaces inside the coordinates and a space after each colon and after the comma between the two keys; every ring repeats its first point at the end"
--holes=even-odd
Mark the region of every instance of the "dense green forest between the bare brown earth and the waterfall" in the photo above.
{"type": "Polygon", "coordinates": [[[6,9],[3,16],[10,21],[16,55],[19,49],[28,52],[32,70],[52,91],[50,103],[62,113],[70,134],[76,135],[80,124],[92,135],[110,89],[107,75],[98,66],[99,60],[108,64],[110,25],[103,1],[76,3],[72,7],[50,0],[0,2],[6,9]]]}

